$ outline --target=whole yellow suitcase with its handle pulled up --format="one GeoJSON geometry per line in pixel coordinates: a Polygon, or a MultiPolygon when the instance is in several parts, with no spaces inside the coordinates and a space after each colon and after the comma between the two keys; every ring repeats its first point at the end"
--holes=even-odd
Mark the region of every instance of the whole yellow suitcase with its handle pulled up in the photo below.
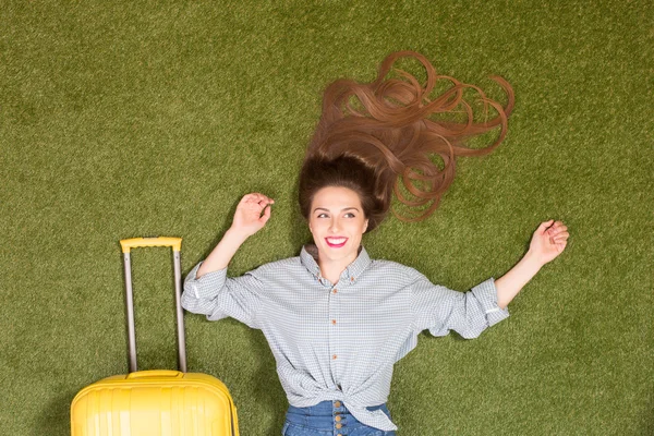
{"type": "Polygon", "coordinates": [[[237,408],[222,382],[206,374],[186,373],[180,302],[181,238],[136,238],[120,243],[125,268],[130,374],[101,379],[75,396],[71,404],[71,434],[239,436],[237,408]],[[181,371],[137,371],[130,251],[140,246],[172,247],[181,371]]]}

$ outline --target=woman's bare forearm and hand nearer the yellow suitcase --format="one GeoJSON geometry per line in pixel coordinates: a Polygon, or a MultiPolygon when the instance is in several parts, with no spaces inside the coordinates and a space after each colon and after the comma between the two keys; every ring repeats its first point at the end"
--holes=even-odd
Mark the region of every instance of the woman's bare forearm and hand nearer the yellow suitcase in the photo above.
{"type": "Polygon", "coordinates": [[[274,203],[272,198],[258,193],[247,194],[241,198],[231,227],[201,265],[196,278],[227,268],[243,242],[268,222],[270,219],[269,206],[274,203]]]}

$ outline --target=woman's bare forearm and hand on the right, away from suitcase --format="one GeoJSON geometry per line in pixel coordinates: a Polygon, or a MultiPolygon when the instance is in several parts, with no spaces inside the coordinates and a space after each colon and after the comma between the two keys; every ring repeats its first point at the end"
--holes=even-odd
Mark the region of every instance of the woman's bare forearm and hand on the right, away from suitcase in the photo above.
{"type": "Polygon", "coordinates": [[[538,226],[524,257],[507,274],[495,280],[497,305],[500,308],[507,307],[543,265],[562,253],[569,235],[568,228],[561,221],[555,222],[550,219],[538,226]]]}

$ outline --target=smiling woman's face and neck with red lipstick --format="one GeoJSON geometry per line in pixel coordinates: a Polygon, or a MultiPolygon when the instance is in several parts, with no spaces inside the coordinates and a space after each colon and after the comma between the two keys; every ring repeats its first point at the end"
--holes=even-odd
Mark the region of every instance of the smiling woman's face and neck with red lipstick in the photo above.
{"type": "Polygon", "coordinates": [[[308,229],[323,262],[354,262],[361,237],[367,228],[359,195],[341,186],[327,186],[318,191],[311,205],[308,229]]]}

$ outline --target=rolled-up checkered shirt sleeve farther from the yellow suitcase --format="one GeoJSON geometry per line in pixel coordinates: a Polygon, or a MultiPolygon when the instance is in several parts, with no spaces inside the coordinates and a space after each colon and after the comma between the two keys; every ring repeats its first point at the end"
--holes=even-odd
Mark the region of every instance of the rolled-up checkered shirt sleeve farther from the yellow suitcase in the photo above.
{"type": "Polygon", "coordinates": [[[415,274],[412,303],[417,331],[428,329],[434,336],[446,336],[455,330],[463,338],[472,339],[509,316],[507,308],[497,305],[494,278],[468,292],[458,292],[415,274]]]}

